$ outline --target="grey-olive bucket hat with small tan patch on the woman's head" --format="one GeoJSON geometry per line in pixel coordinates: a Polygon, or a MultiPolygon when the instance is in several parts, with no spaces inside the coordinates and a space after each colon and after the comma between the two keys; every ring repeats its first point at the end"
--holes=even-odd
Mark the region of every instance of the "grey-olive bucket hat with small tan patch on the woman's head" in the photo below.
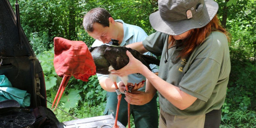
{"type": "Polygon", "coordinates": [[[158,8],[150,14],[151,26],[159,32],[180,35],[207,25],[219,6],[213,0],[158,0],[158,8]]]}

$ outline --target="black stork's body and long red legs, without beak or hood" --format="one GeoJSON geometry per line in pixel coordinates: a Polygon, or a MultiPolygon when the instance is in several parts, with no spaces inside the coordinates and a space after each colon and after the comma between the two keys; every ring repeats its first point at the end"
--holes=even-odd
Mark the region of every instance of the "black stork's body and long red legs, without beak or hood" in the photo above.
{"type": "MultiPolygon", "coordinates": [[[[111,40],[111,41],[112,42],[110,43],[118,44],[117,43],[118,40],[111,40]]],[[[111,75],[110,71],[113,69],[119,70],[129,63],[129,58],[126,55],[127,50],[131,52],[133,57],[140,60],[150,70],[151,70],[149,66],[150,64],[155,64],[158,66],[160,64],[160,60],[156,59],[155,57],[150,55],[143,55],[140,52],[127,47],[119,47],[116,45],[109,45],[109,44],[101,45],[99,47],[89,47],[89,51],[91,52],[94,63],[96,65],[96,73],[109,75],[109,77],[111,78],[111,80],[115,85],[116,93],[118,95],[115,124],[113,128],[119,128],[117,125],[117,118],[118,118],[118,110],[119,110],[120,100],[121,100],[121,93],[116,84],[117,76],[111,75]]],[[[121,80],[125,84],[126,91],[128,91],[128,86],[127,86],[128,76],[121,77],[121,80]]],[[[128,103],[128,128],[130,128],[130,104],[129,103],[128,103]]]]}

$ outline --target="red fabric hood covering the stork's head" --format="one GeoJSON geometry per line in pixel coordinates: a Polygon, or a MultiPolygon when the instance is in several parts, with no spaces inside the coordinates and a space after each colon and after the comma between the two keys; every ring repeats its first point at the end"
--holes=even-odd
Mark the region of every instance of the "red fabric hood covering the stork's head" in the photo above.
{"type": "Polygon", "coordinates": [[[96,66],[82,41],[71,41],[61,37],[54,38],[53,65],[58,76],[74,76],[76,79],[88,81],[96,74],[96,66]]]}

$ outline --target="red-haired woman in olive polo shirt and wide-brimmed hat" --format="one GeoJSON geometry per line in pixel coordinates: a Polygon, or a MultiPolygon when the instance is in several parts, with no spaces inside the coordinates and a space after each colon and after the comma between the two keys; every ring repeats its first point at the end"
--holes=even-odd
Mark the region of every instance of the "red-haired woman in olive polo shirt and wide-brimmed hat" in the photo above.
{"type": "Polygon", "coordinates": [[[130,62],[113,74],[141,73],[153,85],[126,92],[126,101],[142,105],[159,92],[159,128],[218,128],[230,73],[228,32],[219,24],[212,0],[158,0],[150,15],[157,31],[127,46],[161,55],[158,76],[127,52],[130,62]],[[147,100],[145,100],[147,99],[147,100]]]}

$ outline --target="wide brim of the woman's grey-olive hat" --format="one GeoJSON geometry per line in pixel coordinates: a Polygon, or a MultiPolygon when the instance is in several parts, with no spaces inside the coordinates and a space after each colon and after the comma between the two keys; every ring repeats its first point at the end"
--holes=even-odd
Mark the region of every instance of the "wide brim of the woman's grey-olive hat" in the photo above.
{"type": "Polygon", "coordinates": [[[180,20],[170,22],[163,20],[159,10],[150,14],[150,24],[158,32],[163,32],[168,35],[180,35],[194,28],[201,28],[207,25],[218,11],[218,3],[214,1],[205,1],[206,7],[188,20],[180,20]]]}

